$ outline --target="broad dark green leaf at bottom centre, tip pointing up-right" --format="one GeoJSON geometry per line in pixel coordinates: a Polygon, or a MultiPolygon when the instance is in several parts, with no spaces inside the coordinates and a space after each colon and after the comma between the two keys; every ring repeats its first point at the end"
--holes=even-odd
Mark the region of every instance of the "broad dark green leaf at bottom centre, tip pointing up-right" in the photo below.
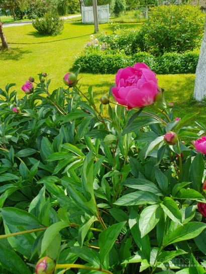
{"type": "Polygon", "coordinates": [[[99,257],[100,263],[104,261],[104,258],[109,251],[112,249],[113,245],[115,244],[118,235],[120,234],[121,230],[125,226],[126,222],[121,222],[118,224],[113,224],[112,226],[106,228],[99,234],[98,242],[99,242],[99,257]]]}

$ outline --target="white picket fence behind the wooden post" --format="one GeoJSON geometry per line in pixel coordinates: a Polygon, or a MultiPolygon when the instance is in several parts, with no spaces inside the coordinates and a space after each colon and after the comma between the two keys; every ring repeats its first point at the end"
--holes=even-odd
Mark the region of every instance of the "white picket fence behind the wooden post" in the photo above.
{"type": "MultiPolygon", "coordinates": [[[[108,23],[110,19],[109,4],[97,6],[98,23],[108,23]]],[[[82,23],[93,24],[93,7],[81,6],[82,23]]]]}

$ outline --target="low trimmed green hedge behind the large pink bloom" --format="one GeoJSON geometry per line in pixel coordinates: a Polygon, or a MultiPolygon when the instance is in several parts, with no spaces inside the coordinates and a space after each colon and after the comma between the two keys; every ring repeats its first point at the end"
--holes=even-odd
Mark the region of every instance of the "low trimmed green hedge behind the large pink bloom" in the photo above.
{"type": "Polygon", "coordinates": [[[160,57],[140,52],[132,56],[106,54],[105,52],[80,55],[73,63],[73,69],[81,67],[81,72],[93,74],[115,74],[118,69],[145,63],[158,74],[195,73],[198,53],[165,53],[160,57]]]}

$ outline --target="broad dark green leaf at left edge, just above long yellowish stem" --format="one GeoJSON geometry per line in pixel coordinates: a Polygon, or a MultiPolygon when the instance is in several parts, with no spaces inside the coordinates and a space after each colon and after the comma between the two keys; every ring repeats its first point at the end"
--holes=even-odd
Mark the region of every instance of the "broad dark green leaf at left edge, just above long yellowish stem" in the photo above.
{"type": "Polygon", "coordinates": [[[43,227],[37,217],[19,208],[2,208],[2,217],[4,221],[9,225],[21,225],[24,226],[26,229],[43,227]]]}

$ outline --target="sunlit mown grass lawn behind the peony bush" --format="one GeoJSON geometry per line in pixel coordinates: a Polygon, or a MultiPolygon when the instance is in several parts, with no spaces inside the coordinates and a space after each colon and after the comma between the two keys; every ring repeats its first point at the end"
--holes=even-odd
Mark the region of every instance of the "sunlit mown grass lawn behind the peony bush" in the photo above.
{"type": "MultiPolygon", "coordinates": [[[[75,19],[76,20],[76,19],[75,19]]],[[[122,24],[125,28],[134,28],[139,24],[122,24]]],[[[110,33],[108,24],[99,25],[100,32],[110,33]]],[[[16,83],[19,97],[24,93],[21,86],[30,76],[47,72],[52,79],[51,90],[63,86],[62,78],[72,66],[75,55],[83,50],[93,34],[92,25],[81,22],[67,22],[61,35],[41,36],[32,25],[5,28],[10,45],[8,52],[0,51],[0,87],[7,83],[16,83]]],[[[95,102],[109,91],[115,81],[115,75],[79,74],[81,89],[86,92],[92,85],[95,102]]],[[[206,108],[191,100],[194,88],[194,74],[158,75],[159,86],[165,89],[165,98],[181,107],[174,110],[175,116],[182,117],[189,112],[199,112],[197,120],[205,123],[206,108]]]]}

